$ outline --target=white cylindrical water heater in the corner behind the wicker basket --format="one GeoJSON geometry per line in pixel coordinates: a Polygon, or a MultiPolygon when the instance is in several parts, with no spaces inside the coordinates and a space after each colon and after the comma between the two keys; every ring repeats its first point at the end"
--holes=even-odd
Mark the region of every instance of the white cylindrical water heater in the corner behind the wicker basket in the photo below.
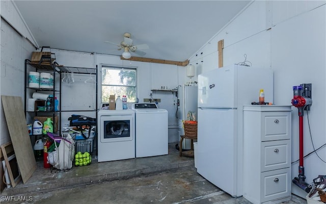
{"type": "MultiPolygon", "coordinates": [[[[183,85],[178,88],[178,134],[179,134],[179,141],[180,135],[184,135],[183,130],[183,121],[187,119],[188,111],[191,111],[195,114],[197,120],[197,100],[198,100],[198,86],[192,84],[192,86],[183,85]]],[[[183,140],[182,142],[183,149],[190,149],[191,148],[191,140],[183,140]]]]}

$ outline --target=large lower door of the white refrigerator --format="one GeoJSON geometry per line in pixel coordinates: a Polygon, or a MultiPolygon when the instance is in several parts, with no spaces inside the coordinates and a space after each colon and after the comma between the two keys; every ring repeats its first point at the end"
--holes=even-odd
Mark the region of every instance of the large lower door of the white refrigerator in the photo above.
{"type": "Polygon", "coordinates": [[[197,171],[231,196],[237,192],[237,140],[234,109],[198,109],[197,171]]]}

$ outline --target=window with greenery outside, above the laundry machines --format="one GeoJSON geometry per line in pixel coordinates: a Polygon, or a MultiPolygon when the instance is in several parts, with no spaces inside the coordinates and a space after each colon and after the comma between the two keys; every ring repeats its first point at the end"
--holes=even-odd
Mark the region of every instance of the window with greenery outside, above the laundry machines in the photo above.
{"type": "Polygon", "coordinates": [[[110,95],[127,96],[128,103],[137,99],[136,69],[102,66],[102,103],[108,103],[110,95]]]}

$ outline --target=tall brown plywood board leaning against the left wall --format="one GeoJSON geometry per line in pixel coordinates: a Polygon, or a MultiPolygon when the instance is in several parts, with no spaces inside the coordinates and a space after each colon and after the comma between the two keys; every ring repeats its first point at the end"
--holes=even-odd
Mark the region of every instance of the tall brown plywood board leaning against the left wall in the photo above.
{"type": "Polygon", "coordinates": [[[9,135],[14,147],[22,182],[26,183],[36,169],[21,97],[1,96],[9,135]]]}

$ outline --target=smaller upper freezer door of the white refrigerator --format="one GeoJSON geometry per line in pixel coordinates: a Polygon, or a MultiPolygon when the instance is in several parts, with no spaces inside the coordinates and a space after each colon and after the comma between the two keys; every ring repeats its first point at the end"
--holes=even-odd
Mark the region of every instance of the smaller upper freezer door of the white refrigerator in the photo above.
{"type": "Polygon", "coordinates": [[[198,75],[198,107],[236,107],[236,65],[198,75]]]}

